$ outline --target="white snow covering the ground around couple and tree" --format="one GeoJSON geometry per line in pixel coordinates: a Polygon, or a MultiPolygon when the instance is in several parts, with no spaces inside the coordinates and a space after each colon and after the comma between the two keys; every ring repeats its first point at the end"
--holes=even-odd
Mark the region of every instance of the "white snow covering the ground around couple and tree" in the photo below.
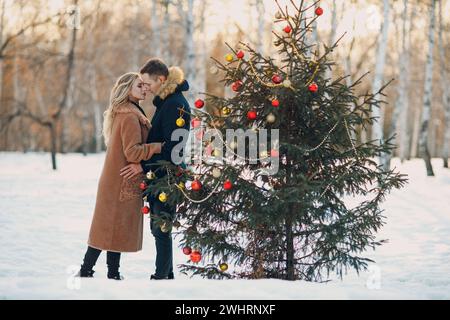
{"type": "MultiPolygon", "coordinates": [[[[86,249],[104,154],[0,153],[0,299],[449,299],[450,170],[436,159],[436,177],[421,160],[403,165],[410,183],[384,204],[389,243],[368,252],[377,264],[359,276],[327,284],[280,280],[203,280],[178,275],[149,281],[154,242],[146,229],[144,249],[125,254],[123,282],[106,278],[105,255],[94,279],[72,274],[86,249]]],[[[146,220],[148,223],[148,220],[146,220]]],[[[175,249],[175,263],[185,262],[175,249]]]]}

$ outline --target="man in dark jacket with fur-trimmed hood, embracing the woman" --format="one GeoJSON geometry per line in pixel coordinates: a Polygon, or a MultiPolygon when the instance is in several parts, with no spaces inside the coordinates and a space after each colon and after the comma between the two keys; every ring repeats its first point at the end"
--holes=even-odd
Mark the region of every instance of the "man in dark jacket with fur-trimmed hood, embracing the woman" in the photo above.
{"type": "MultiPolygon", "coordinates": [[[[189,135],[191,112],[183,92],[189,90],[189,84],[180,68],[168,68],[159,59],[150,59],[140,73],[148,91],[155,95],[153,104],[156,106],[156,112],[152,119],[147,143],[161,142],[164,145],[160,154],[155,154],[149,160],[143,161],[141,166],[132,164],[125,167],[122,175],[129,177],[142,171],[148,173],[151,170],[161,177],[165,173],[158,170],[160,167],[158,161],[164,160],[183,165],[183,150],[189,135]],[[177,124],[180,118],[183,118],[184,124],[183,122],[177,124]],[[179,126],[180,124],[183,125],[179,126]],[[178,129],[183,129],[180,131],[183,135],[176,135],[178,138],[172,141],[172,134],[178,129]]],[[[148,200],[152,215],[161,217],[168,214],[175,217],[176,208],[153,196],[148,200]]],[[[156,272],[151,279],[173,279],[172,234],[170,231],[163,232],[154,219],[150,221],[150,228],[156,242],[156,272]]]]}

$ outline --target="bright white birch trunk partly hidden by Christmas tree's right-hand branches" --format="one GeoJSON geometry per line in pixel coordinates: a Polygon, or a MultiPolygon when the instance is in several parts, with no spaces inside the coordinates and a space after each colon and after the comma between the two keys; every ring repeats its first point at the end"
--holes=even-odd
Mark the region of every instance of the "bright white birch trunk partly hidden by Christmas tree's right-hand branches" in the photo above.
{"type": "MultiPolygon", "coordinates": [[[[389,0],[383,0],[383,24],[381,26],[381,34],[379,37],[377,58],[375,65],[375,76],[372,84],[372,92],[378,92],[383,86],[384,66],[386,63],[386,49],[388,42],[389,31],[389,16],[390,16],[390,3],[389,0]]],[[[378,121],[374,122],[372,127],[372,140],[376,140],[375,143],[381,143],[383,140],[383,126],[384,126],[384,108],[382,106],[374,108],[373,117],[376,117],[378,121]]],[[[383,154],[380,157],[380,164],[385,165],[387,159],[383,154]]]]}

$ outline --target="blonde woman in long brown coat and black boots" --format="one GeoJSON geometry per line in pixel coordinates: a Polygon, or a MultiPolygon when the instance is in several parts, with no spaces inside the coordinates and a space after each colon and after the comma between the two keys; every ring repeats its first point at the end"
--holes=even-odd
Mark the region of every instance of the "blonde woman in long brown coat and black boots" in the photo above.
{"type": "Polygon", "coordinates": [[[111,91],[110,106],[104,114],[103,135],[106,158],[97,191],[88,249],[80,277],[92,277],[102,250],[108,251],[108,278],[122,280],[119,273],[121,252],[142,249],[143,216],[140,174],[131,179],[120,175],[130,163],[148,160],[161,152],[161,144],[145,144],[150,121],[139,106],[145,89],[138,73],[121,76],[111,91]]]}

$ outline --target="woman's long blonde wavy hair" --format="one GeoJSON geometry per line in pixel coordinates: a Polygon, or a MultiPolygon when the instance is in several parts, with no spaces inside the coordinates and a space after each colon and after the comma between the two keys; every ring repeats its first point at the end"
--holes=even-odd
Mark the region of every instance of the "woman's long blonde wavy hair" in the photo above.
{"type": "Polygon", "coordinates": [[[105,138],[105,145],[108,146],[109,139],[112,133],[112,125],[114,116],[119,106],[125,104],[129,100],[129,94],[134,81],[139,78],[139,73],[128,72],[117,79],[116,84],[111,90],[109,98],[109,107],[103,114],[103,137],[105,138]]]}

